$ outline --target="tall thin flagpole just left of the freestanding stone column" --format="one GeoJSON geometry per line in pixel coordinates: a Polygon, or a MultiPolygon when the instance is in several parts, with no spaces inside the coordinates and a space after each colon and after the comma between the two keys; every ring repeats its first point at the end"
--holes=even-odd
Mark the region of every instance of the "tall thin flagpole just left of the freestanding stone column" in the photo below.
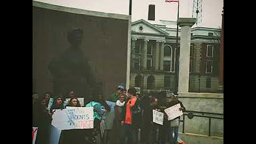
{"type": "Polygon", "coordinates": [[[176,68],[175,68],[175,80],[176,80],[176,83],[175,83],[175,91],[174,93],[175,94],[178,94],[178,86],[179,86],[179,57],[180,57],[180,49],[178,47],[178,30],[179,30],[179,25],[178,25],[178,19],[179,19],[179,7],[180,7],[180,1],[178,1],[178,14],[177,14],[177,29],[176,29],[176,68]]]}

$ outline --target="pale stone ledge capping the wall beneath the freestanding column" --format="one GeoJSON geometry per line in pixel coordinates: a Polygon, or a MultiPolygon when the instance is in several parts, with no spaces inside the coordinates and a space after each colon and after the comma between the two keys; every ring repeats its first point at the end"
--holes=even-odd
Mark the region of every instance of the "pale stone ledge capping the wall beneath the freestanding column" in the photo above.
{"type": "Polygon", "coordinates": [[[180,98],[223,99],[223,93],[178,92],[180,98]]]}

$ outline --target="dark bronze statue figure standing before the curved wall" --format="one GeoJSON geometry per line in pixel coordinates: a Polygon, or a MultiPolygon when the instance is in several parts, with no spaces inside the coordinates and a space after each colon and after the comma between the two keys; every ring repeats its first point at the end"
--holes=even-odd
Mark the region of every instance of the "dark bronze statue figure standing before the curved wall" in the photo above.
{"type": "Polygon", "coordinates": [[[89,97],[97,86],[97,81],[91,71],[83,51],[81,50],[83,30],[73,28],[68,31],[70,47],[58,58],[49,63],[49,70],[54,78],[54,95],[68,95],[75,91],[77,96],[89,97]]]}

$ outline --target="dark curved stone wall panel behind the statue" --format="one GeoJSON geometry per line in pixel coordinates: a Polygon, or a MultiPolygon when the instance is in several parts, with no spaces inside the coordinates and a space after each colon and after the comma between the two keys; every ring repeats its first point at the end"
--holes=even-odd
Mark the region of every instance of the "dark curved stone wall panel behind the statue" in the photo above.
{"type": "MultiPolygon", "coordinates": [[[[54,91],[49,62],[69,48],[67,32],[81,28],[82,52],[97,81],[103,83],[103,94],[110,97],[116,83],[126,83],[128,22],[33,6],[33,90],[54,91]]],[[[81,90],[77,96],[83,94],[81,90]]]]}

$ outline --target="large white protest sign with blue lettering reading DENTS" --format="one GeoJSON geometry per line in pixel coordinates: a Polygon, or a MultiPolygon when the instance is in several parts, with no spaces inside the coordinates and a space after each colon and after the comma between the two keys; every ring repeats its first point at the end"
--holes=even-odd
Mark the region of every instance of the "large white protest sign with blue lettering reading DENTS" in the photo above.
{"type": "Polygon", "coordinates": [[[93,107],[66,107],[56,109],[52,125],[59,130],[93,129],[93,107]]]}

